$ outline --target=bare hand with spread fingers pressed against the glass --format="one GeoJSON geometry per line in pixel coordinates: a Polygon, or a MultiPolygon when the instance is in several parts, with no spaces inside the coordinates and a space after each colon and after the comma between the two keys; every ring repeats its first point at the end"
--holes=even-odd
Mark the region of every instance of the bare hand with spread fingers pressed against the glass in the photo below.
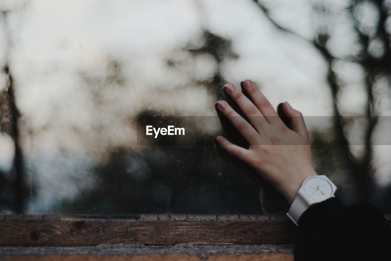
{"type": "Polygon", "coordinates": [[[270,182],[291,204],[303,180],[317,175],[312,166],[303,116],[287,102],[283,103],[282,109],[290,121],[291,130],[254,83],[246,80],[243,87],[248,97],[233,85],[225,86],[225,91],[248,121],[226,101],[219,101],[217,108],[246,139],[249,148],[237,146],[222,136],[216,141],[227,153],[246,162],[270,182]]]}

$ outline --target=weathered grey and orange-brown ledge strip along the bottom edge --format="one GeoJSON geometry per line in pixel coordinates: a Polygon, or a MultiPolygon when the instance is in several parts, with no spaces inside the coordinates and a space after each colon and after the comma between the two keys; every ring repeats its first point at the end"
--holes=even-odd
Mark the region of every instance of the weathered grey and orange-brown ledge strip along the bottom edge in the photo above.
{"type": "Polygon", "coordinates": [[[1,260],[20,261],[293,261],[294,245],[192,245],[96,247],[2,247],[1,260]]]}

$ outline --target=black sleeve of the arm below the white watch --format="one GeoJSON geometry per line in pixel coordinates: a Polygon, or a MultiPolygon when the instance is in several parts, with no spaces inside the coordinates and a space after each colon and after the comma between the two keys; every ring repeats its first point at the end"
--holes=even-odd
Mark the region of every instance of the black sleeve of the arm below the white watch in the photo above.
{"type": "Polygon", "coordinates": [[[372,204],[345,207],[329,198],[309,207],[298,224],[296,261],[391,260],[391,226],[372,204]]]}

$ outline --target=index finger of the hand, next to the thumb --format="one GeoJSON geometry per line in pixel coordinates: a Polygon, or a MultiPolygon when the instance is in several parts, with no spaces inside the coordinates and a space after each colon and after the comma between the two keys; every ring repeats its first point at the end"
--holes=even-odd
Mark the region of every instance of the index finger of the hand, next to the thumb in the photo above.
{"type": "Polygon", "coordinates": [[[277,113],[274,110],[273,106],[269,103],[266,97],[258,89],[258,87],[250,80],[243,82],[244,89],[251,97],[251,100],[254,101],[255,106],[258,110],[264,115],[267,122],[270,124],[280,123],[280,119],[277,117],[277,113]]]}

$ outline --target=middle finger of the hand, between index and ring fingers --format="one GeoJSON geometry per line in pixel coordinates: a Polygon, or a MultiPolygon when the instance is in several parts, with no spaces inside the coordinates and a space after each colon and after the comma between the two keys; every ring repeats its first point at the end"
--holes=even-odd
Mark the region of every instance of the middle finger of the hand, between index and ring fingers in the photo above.
{"type": "Polygon", "coordinates": [[[267,121],[258,108],[238,88],[235,88],[235,86],[228,84],[225,86],[225,91],[238,104],[254,128],[260,132],[262,126],[267,124],[267,121]]]}

